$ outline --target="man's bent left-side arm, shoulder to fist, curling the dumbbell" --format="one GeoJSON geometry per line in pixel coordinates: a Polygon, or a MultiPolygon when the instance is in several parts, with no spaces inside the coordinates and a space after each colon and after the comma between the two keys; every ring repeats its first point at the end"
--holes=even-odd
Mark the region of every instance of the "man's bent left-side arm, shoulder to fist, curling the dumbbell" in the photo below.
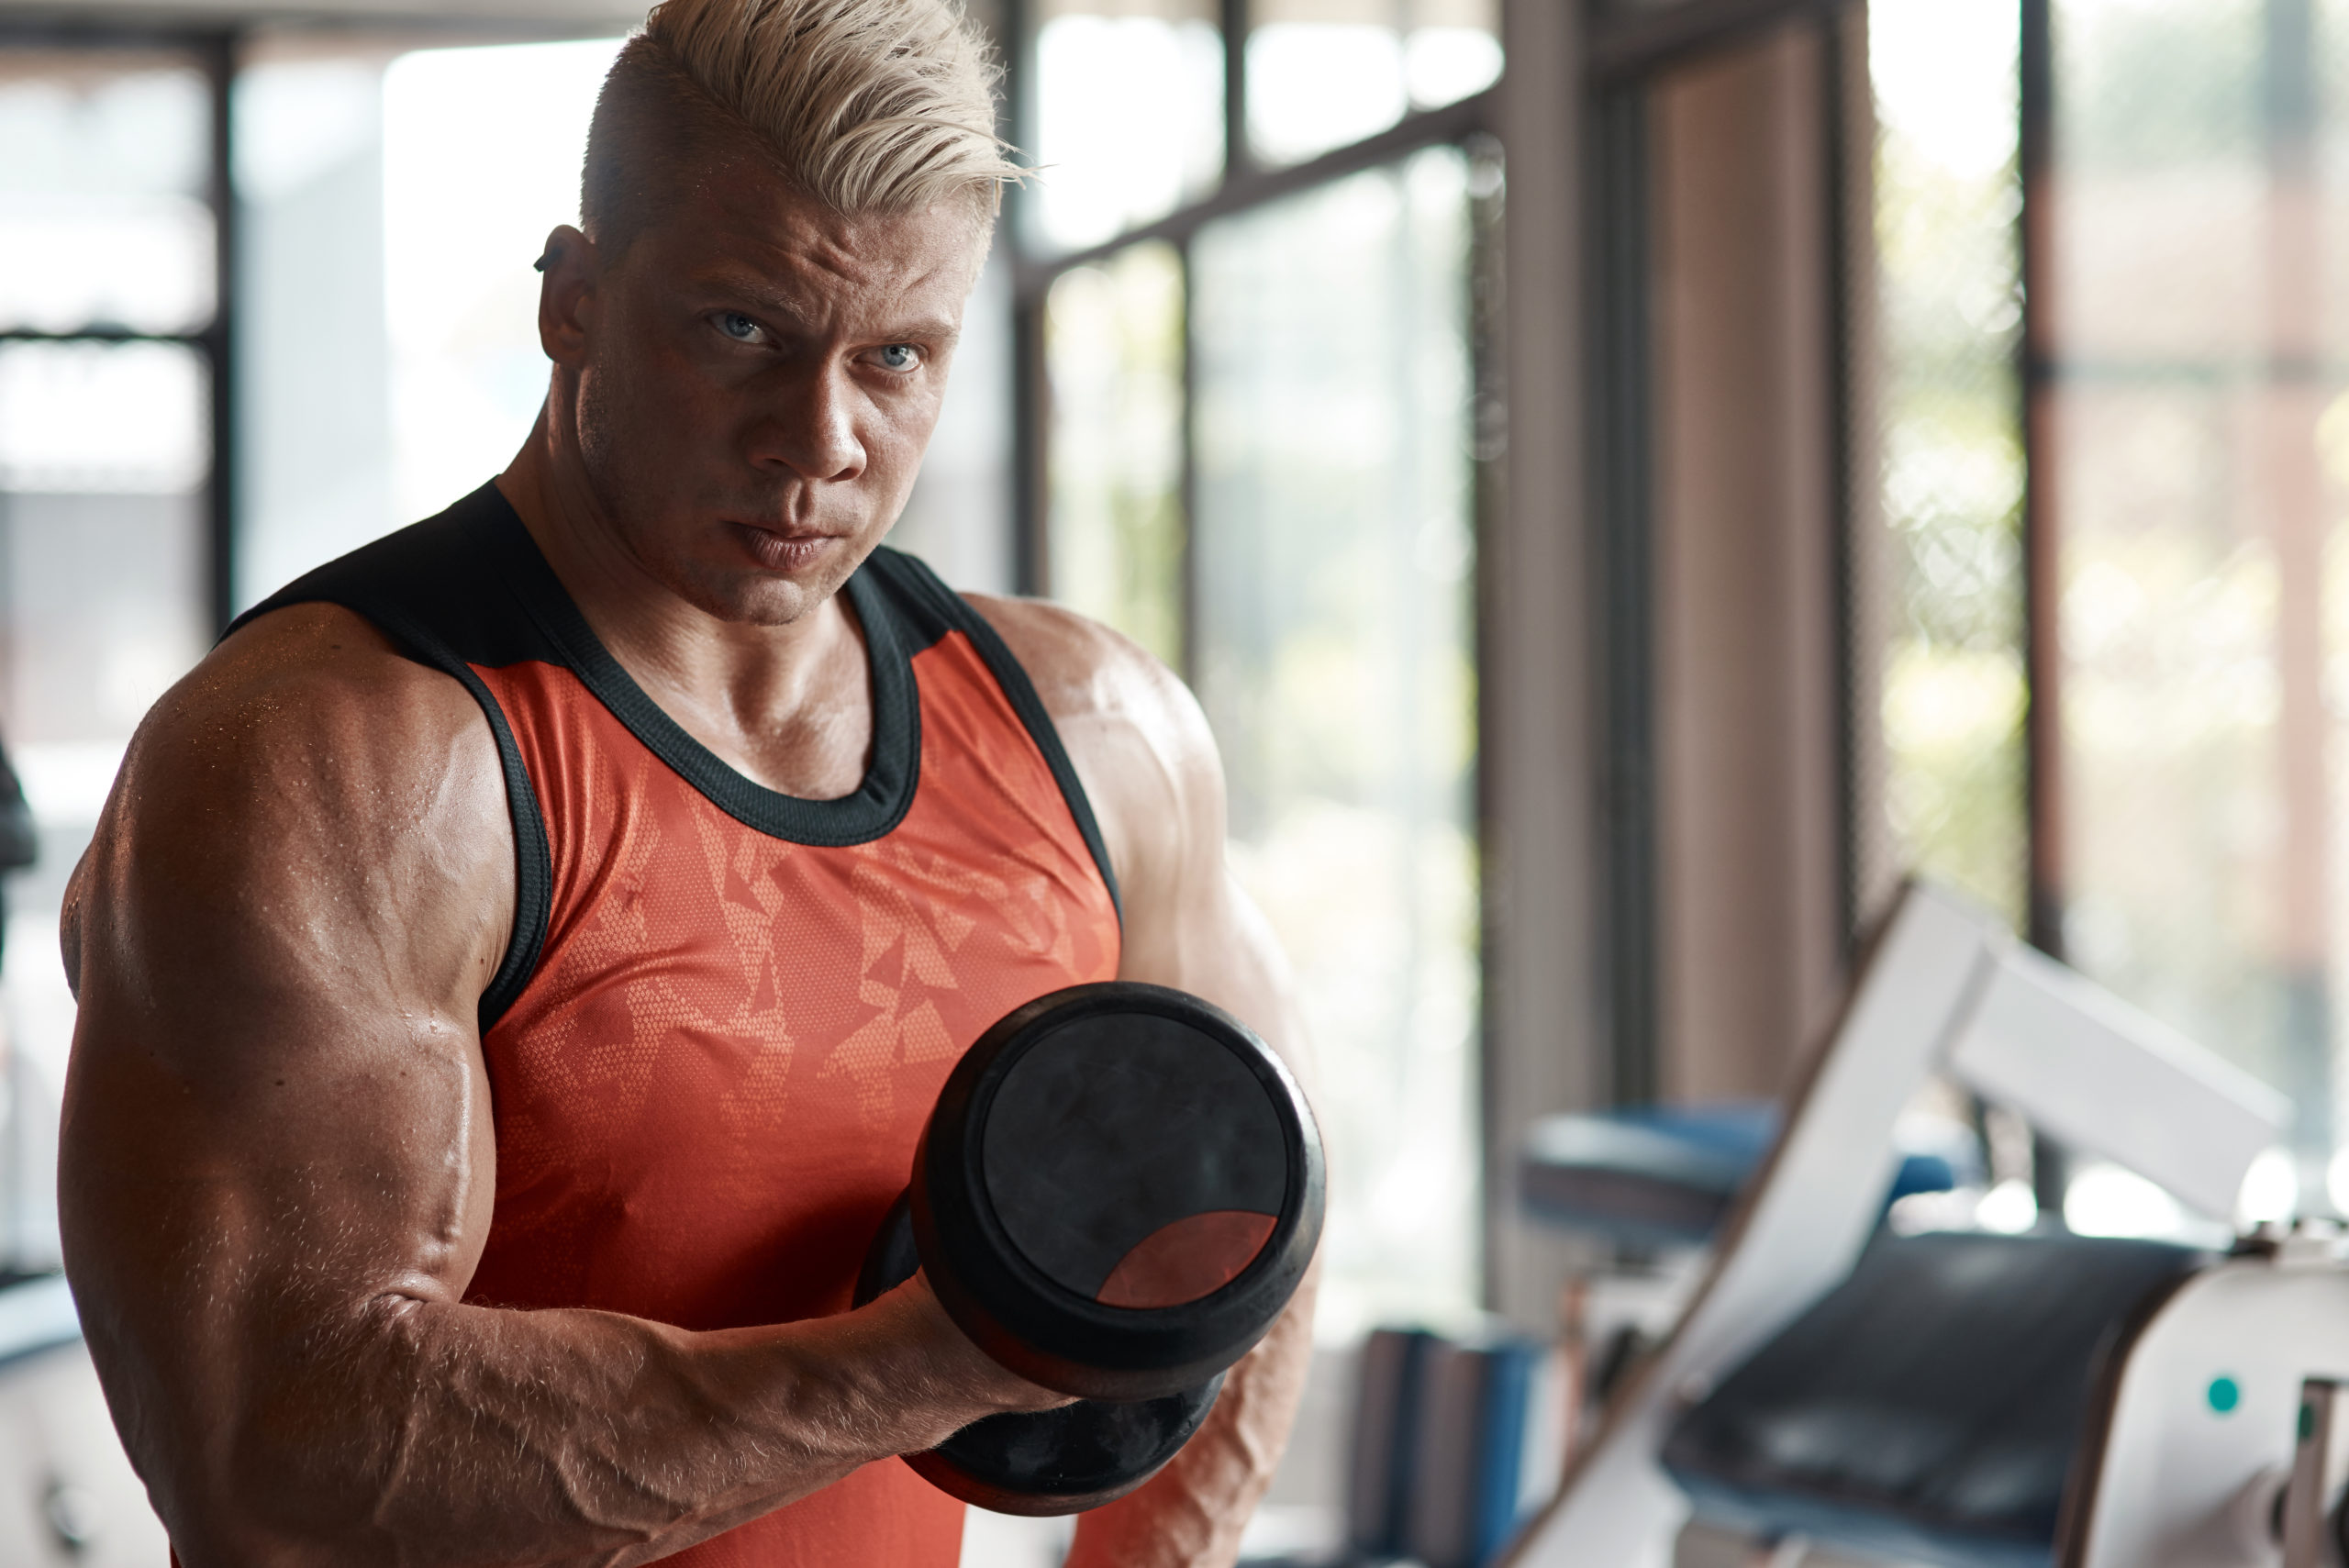
{"type": "Polygon", "coordinates": [[[644,1563],[1062,1401],[918,1277],[723,1333],[465,1305],[512,908],[479,709],[345,610],[240,631],[132,744],[66,906],[59,1188],[186,1568],[644,1563]]]}

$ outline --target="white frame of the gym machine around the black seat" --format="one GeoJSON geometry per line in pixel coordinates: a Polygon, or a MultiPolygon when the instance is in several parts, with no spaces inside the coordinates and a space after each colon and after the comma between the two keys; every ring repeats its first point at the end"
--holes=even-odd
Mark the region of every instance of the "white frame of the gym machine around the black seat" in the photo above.
{"type": "MultiPolygon", "coordinates": [[[[2234,1218],[2250,1162],[2279,1141],[2290,1110],[1987,915],[1912,887],[1790,1096],[1778,1141],[1722,1225],[1689,1307],[1616,1390],[1557,1500],[1503,1556],[1510,1568],[1675,1563],[1691,1519],[1689,1495],[1663,1465],[1675,1425],[1853,1272],[1896,1164],[1893,1122],[1936,1075],[2222,1221],[2234,1218]]],[[[2086,1420],[2060,1460],[2053,1545],[1973,1554],[1961,1540],[1931,1542],[1926,1526],[1926,1545],[1905,1556],[2340,1566],[2349,1394],[2335,1413],[2337,1387],[2349,1387],[2349,1261],[2330,1228],[2264,1232],[2229,1256],[2194,1256],[2095,1357],[2086,1420]]],[[[1785,1533],[1837,1549],[1799,1521],[1785,1533]]]]}

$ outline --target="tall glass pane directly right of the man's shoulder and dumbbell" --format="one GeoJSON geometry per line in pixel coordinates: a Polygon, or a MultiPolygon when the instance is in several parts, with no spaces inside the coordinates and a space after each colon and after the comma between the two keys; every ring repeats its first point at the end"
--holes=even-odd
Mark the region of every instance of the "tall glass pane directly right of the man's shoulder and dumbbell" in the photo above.
{"type": "Polygon", "coordinates": [[[1466,268],[1454,148],[1193,251],[1193,667],[1322,1056],[1337,1331],[1478,1289],[1466,268]]]}

